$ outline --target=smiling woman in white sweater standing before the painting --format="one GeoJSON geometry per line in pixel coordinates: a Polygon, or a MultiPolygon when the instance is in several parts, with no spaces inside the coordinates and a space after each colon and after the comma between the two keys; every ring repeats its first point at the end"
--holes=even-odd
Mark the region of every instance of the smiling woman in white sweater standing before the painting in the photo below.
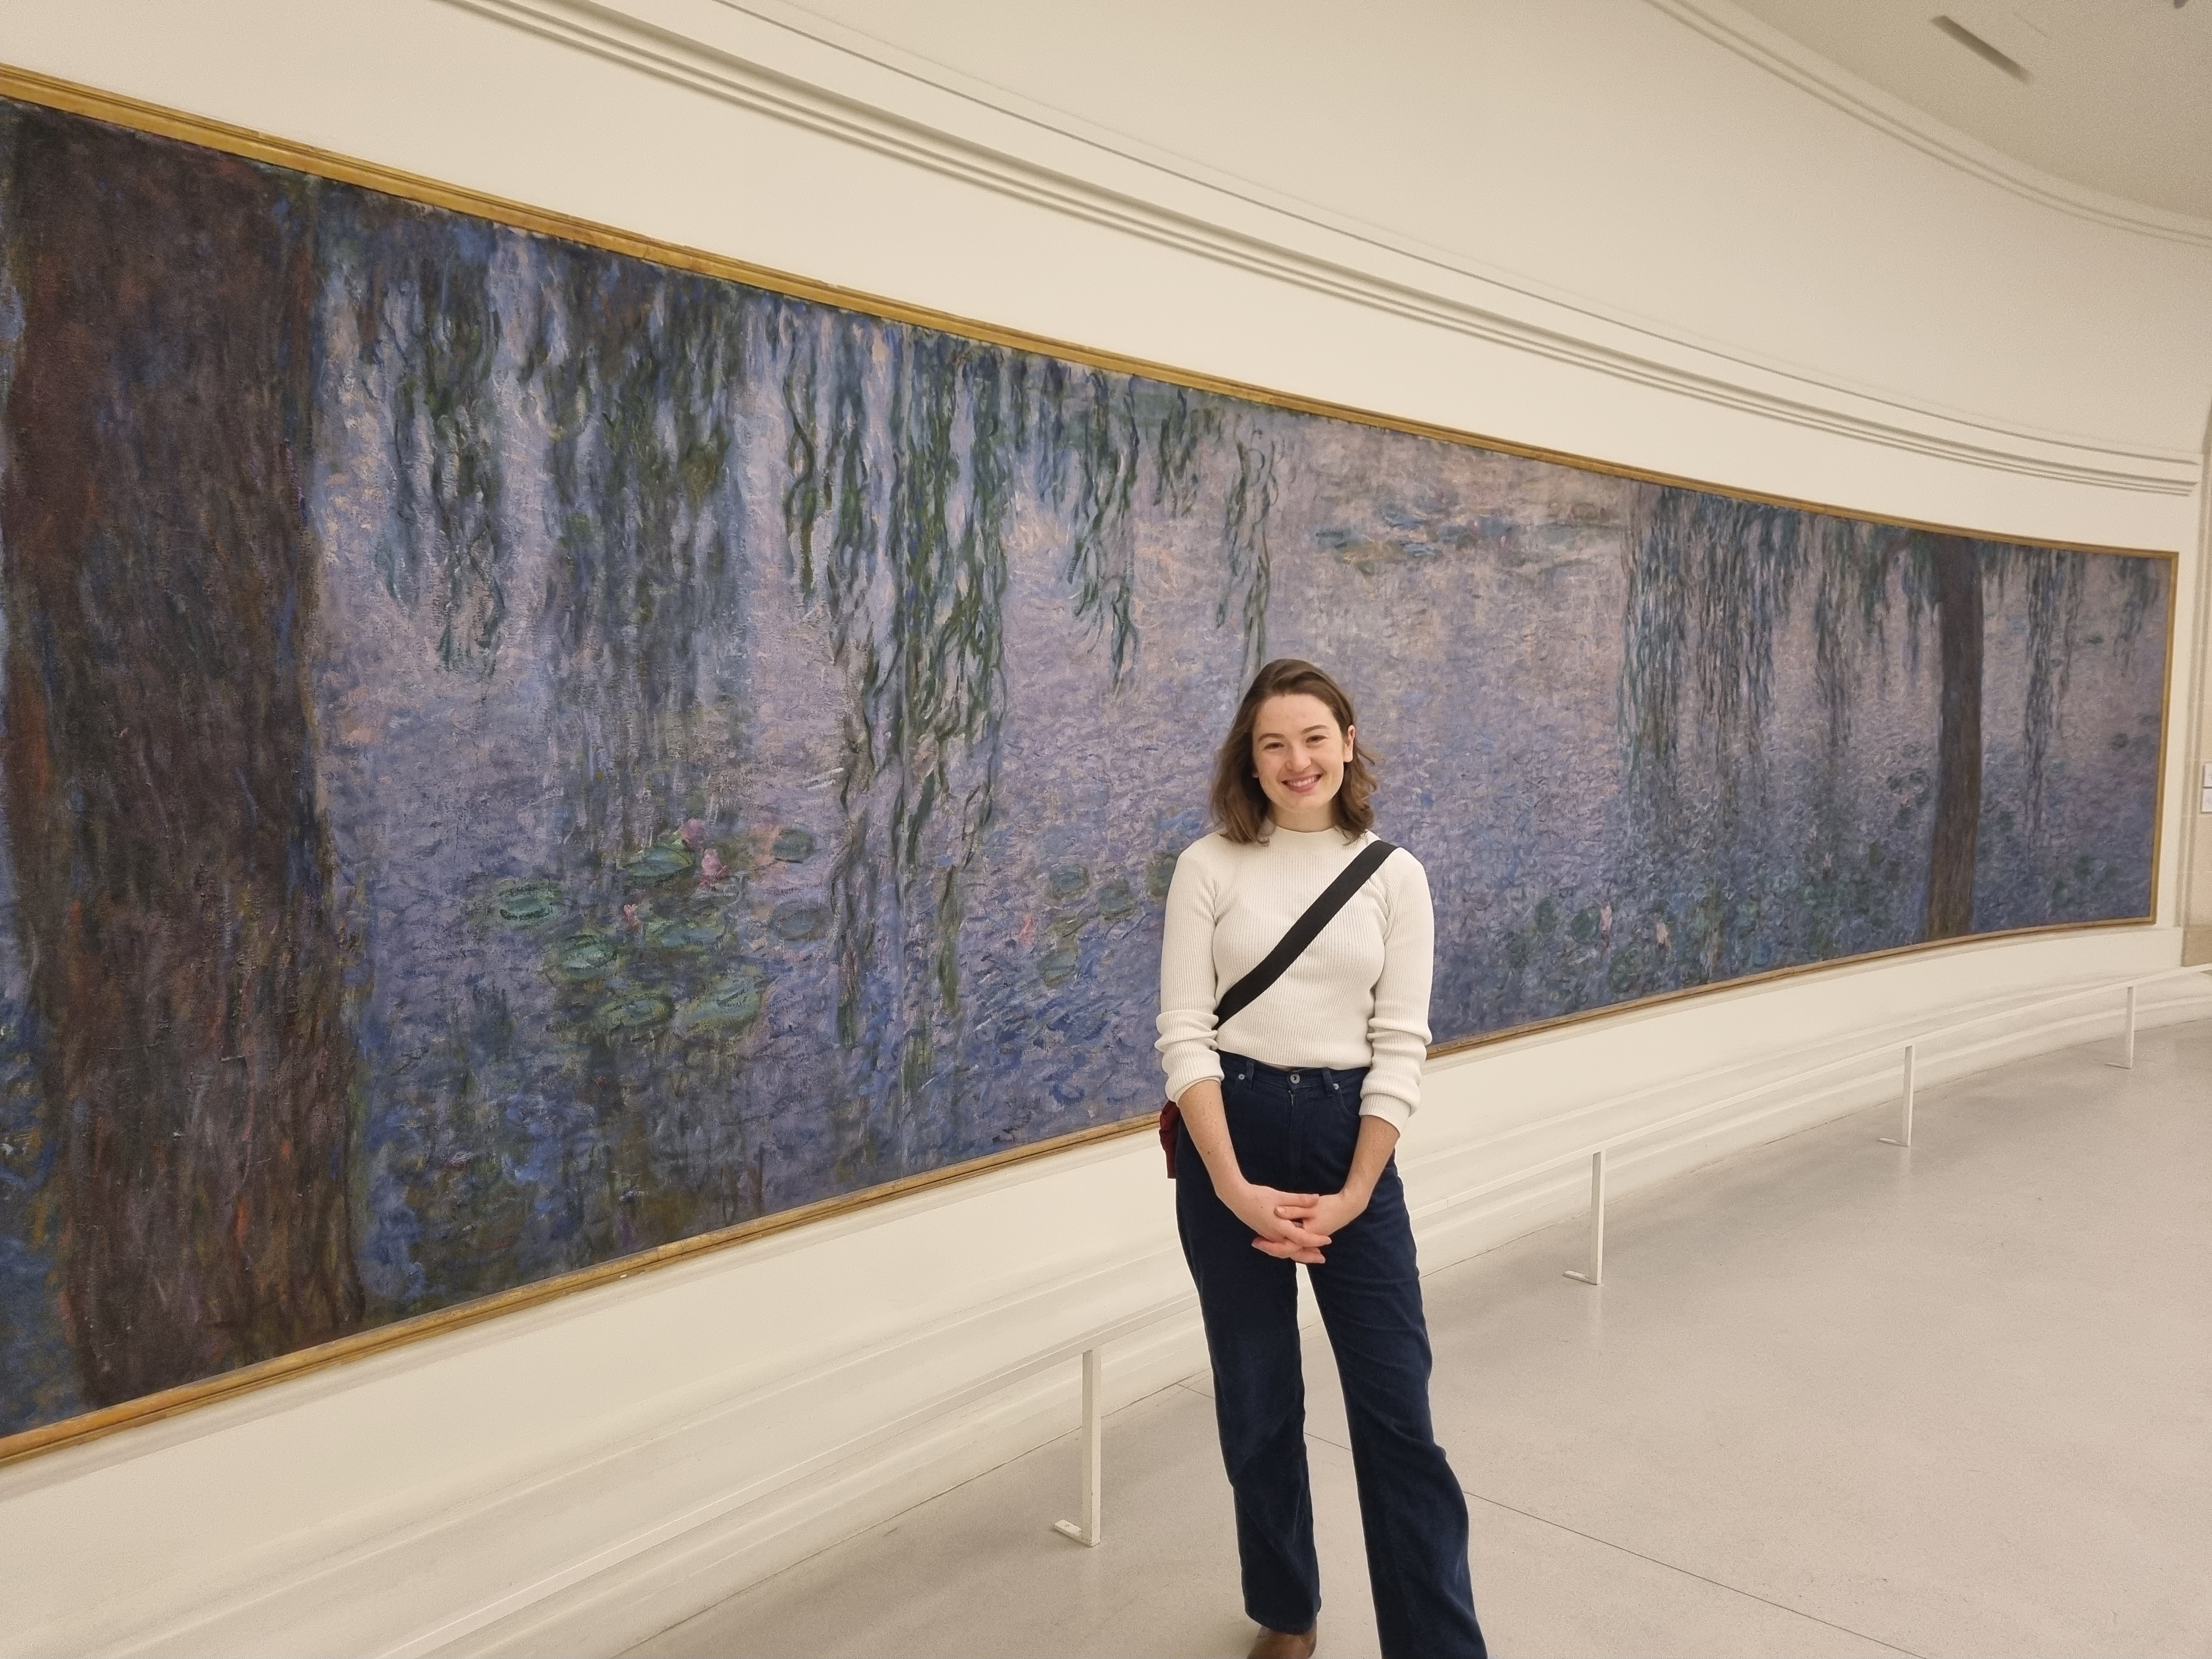
{"type": "Polygon", "coordinates": [[[1312,1655],[1321,1613],[1294,1263],[1345,1387],[1383,1652],[1484,1652],[1467,1498],[1429,1427],[1429,1332],[1391,1161],[1429,1048],[1436,927],[1420,863],[1391,852],[1214,1029],[1221,993],[1376,838],[1374,787],[1343,688],[1307,661],[1272,661],[1221,743],[1221,827],[1168,887],[1159,1053],[1181,1108],[1175,1208],[1214,1363],[1254,1659],[1312,1655]]]}

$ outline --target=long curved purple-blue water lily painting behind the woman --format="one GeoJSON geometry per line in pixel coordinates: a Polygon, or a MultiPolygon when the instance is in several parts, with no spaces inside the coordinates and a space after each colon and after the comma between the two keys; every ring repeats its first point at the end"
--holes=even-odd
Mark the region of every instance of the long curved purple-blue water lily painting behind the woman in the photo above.
{"type": "Polygon", "coordinates": [[[0,1433],[1117,1124],[1272,655],[1440,1044],[2143,918],[2170,562],[0,102],[0,1433]]]}

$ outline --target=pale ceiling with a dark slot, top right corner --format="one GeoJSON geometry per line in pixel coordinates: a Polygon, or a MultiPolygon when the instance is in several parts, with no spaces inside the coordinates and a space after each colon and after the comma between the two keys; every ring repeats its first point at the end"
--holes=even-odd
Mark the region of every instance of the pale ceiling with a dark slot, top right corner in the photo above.
{"type": "Polygon", "coordinates": [[[2212,0],[1736,0],[2020,161],[2212,219],[2212,0]],[[2020,82],[1936,27],[1951,15],[2020,82]]]}

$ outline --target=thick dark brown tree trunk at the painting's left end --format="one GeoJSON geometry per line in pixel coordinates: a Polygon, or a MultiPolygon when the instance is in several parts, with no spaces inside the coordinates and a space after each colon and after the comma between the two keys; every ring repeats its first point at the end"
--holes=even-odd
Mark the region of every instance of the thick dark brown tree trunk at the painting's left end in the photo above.
{"type": "Polygon", "coordinates": [[[4,781],[93,1405],[361,1318],[305,701],[303,188],[20,126],[4,781]]]}

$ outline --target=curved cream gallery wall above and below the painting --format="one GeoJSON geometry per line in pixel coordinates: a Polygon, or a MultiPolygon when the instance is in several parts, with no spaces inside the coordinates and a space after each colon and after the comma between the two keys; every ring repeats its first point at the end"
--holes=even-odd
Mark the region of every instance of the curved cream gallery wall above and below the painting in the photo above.
{"type": "MultiPolygon", "coordinates": [[[[1893,1053],[1754,1093],[1820,1060],[1978,1013],[1924,1079],[2108,1033],[2117,998],[2008,1011],[2212,922],[2181,896],[2212,223],[2011,164],[1725,0],[0,0],[0,62],[1230,380],[2183,555],[2157,925],[1442,1060],[1402,1155],[1431,1267],[1573,1214],[1579,1170],[1515,1172],[1597,1135],[1717,1102],[1621,1192],[1893,1093],[1893,1053]]],[[[1181,1287],[1157,1146],[1117,1139],[18,1460],[0,1652],[613,1652],[1066,1431],[1073,1367],[927,1409],[1181,1287]]],[[[1199,1363],[1166,1321],[1108,1389],[1199,1363]]],[[[1141,1524],[1110,1480],[1108,1442],[1108,1548],[1141,1524]]]]}

